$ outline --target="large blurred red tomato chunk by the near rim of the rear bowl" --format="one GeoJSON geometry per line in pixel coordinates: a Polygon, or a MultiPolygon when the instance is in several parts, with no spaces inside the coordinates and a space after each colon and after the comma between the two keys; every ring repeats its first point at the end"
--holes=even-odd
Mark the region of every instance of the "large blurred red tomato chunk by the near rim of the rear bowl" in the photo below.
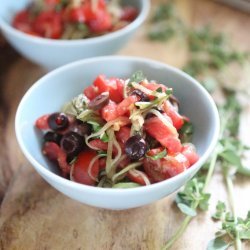
{"type": "Polygon", "coordinates": [[[63,32],[61,14],[55,11],[41,12],[34,20],[33,30],[43,37],[60,38],[63,32]]]}

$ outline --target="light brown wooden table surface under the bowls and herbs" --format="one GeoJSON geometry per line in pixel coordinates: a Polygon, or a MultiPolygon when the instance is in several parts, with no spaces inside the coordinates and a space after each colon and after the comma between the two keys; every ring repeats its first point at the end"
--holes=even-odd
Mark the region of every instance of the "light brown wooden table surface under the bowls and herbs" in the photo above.
{"type": "MultiPolygon", "coordinates": [[[[250,15],[212,1],[176,0],[175,4],[190,25],[211,22],[228,33],[237,47],[250,50],[250,15]]],[[[145,38],[146,30],[145,25],[119,54],[181,67],[187,58],[185,48],[174,41],[152,43],[145,38]]],[[[33,170],[17,145],[14,116],[25,91],[45,72],[4,41],[0,46],[0,249],[160,249],[183,220],[173,204],[174,194],[143,208],[109,211],[65,197],[33,170]]],[[[250,107],[245,117],[242,129],[249,139],[250,107]]],[[[237,178],[236,185],[237,209],[245,215],[250,208],[249,179],[237,178]]],[[[210,191],[213,210],[217,200],[226,197],[220,175],[214,176],[210,191]]],[[[206,249],[218,228],[210,218],[212,210],[194,219],[173,249],[206,249]]],[[[250,244],[244,247],[250,249],[250,244]]]]}

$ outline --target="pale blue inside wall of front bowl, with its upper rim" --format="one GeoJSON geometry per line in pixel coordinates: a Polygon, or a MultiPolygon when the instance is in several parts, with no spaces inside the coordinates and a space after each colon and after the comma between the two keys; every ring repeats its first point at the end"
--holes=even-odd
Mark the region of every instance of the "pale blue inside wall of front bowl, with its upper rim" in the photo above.
{"type": "Polygon", "coordinates": [[[16,117],[16,130],[22,149],[45,168],[58,174],[41,153],[41,134],[35,120],[58,111],[62,105],[90,85],[98,74],[129,78],[142,70],[149,80],[173,87],[180,101],[180,112],[194,125],[193,143],[202,156],[218,132],[217,110],[203,87],[175,68],[150,60],[128,57],[103,57],[79,61],[62,67],[40,79],[23,98],[16,117]]]}

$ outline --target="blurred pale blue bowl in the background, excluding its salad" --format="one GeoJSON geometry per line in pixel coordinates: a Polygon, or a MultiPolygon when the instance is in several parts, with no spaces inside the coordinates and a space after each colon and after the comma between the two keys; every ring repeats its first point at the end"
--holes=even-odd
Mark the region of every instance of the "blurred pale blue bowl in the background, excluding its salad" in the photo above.
{"type": "Polygon", "coordinates": [[[96,56],[111,55],[122,48],[143,23],[149,0],[122,0],[139,10],[138,17],[125,28],[95,38],[52,40],[25,34],[11,26],[15,13],[31,0],[5,0],[0,4],[0,29],[10,44],[24,57],[50,70],[66,63],[96,56]]]}

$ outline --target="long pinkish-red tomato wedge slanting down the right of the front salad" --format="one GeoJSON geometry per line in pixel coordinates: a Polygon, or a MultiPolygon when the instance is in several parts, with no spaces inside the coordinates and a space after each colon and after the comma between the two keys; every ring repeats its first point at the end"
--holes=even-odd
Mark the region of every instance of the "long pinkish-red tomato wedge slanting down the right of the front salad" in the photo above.
{"type": "Polygon", "coordinates": [[[145,131],[165,146],[170,153],[181,151],[181,142],[178,139],[176,128],[169,123],[167,126],[158,117],[152,117],[146,120],[144,124],[145,131]]]}

